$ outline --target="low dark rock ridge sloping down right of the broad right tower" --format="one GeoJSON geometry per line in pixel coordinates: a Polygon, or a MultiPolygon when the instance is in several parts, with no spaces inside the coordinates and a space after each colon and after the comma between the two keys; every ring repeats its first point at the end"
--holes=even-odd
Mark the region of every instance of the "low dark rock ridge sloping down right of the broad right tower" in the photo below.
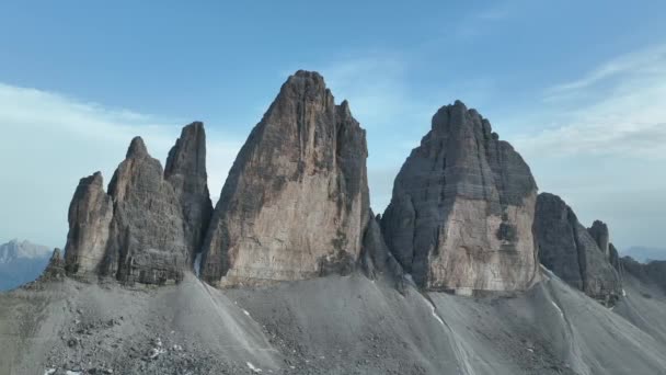
{"type": "MultiPolygon", "coordinates": [[[[608,247],[608,228],[595,221],[588,231],[562,198],[541,193],[537,200],[535,234],[539,260],[570,285],[607,305],[622,293],[622,282],[612,258],[599,246],[608,247]]],[[[612,247],[615,250],[615,247],[612,247]]],[[[617,259],[617,251],[615,251],[617,259]]]]}

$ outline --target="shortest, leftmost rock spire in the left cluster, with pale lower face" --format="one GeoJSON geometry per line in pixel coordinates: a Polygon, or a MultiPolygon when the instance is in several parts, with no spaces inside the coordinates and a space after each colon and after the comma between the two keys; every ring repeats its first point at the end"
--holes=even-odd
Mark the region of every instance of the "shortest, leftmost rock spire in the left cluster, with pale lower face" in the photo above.
{"type": "Polygon", "coordinates": [[[113,202],[104,192],[102,173],[81,179],[69,205],[65,261],[70,275],[91,275],[106,253],[113,202]]]}

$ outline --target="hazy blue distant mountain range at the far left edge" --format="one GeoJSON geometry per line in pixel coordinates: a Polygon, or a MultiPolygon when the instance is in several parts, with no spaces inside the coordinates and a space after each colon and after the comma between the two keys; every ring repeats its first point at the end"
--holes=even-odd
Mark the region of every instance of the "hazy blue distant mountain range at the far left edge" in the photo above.
{"type": "Polygon", "coordinates": [[[35,280],[50,258],[51,249],[13,239],[0,245],[0,291],[35,280]]]}

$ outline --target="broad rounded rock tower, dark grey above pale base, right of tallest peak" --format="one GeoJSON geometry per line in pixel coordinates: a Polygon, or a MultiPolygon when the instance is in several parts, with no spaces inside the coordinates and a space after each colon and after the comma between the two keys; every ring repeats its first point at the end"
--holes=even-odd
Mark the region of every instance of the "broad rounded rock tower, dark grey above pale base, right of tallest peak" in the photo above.
{"type": "Polygon", "coordinates": [[[430,291],[521,291],[537,277],[537,185],[491,124],[461,102],[441,107],[395,178],[387,245],[430,291]]]}

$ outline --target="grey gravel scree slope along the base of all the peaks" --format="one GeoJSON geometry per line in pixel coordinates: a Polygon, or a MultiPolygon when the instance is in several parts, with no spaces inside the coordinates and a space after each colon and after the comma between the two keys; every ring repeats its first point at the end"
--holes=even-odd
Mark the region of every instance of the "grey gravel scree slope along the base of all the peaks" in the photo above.
{"type": "Polygon", "coordinates": [[[665,372],[663,294],[630,283],[613,311],[543,274],[487,298],[403,295],[360,275],[228,291],[192,275],[161,288],[33,285],[0,294],[0,374],[665,372]]]}

